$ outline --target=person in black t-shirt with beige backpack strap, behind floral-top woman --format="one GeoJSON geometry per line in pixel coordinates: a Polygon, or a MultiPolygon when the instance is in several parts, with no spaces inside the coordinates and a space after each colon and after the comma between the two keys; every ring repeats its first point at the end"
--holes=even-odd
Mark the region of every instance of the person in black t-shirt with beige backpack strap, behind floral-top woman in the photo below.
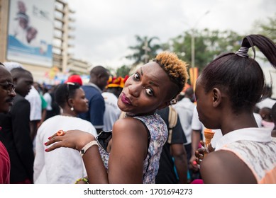
{"type": "Polygon", "coordinates": [[[187,183],[187,155],[183,145],[186,137],[177,112],[173,114],[171,108],[165,107],[156,111],[169,129],[168,139],[162,147],[158,175],[155,177],[157,184],[187,183]],[[174,125],[172,129],[170,129],[170,124],[174,125]]]}

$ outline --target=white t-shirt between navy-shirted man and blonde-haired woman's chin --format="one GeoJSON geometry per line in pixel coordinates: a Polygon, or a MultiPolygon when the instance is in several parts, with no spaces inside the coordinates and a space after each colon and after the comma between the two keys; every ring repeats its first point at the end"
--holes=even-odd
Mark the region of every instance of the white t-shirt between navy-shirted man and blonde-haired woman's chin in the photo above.
{"type": "Polygon", "coordinates": [[[118,98],[114,93],[104,92],[101,93],[104,97],[104,103],[106,105],[106,110],[104,111],[104,131],[111,131],[114,122],[118,120],[121,114],[121,110],[117,105],[118,98]]]}

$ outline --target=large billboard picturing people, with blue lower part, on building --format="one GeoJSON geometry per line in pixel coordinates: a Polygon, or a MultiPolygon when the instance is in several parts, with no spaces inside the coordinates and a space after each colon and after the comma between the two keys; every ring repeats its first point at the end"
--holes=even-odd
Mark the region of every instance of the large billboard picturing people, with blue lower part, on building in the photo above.
{"type": "Polygon", "coordinates": [[[7,59],[53,66],[55,0],[11,0],[7,59]]]}

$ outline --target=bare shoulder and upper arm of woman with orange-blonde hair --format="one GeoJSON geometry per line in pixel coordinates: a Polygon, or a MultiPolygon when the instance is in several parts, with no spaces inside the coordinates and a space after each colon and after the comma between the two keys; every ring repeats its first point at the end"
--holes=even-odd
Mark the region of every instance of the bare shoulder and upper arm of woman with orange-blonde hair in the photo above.
{"type": "Polygon", "coordinates": [[[148,151],[147,132],[134,118],[115,122],[109,155],[109,182],[143,182],[143,161],[148,151]]]}

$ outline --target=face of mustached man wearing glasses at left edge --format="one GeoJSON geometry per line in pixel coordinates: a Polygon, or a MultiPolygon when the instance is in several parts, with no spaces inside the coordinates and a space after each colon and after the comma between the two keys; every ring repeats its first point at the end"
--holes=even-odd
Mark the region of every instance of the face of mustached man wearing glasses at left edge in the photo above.
{"type": "Polygon", "coordinates": [[[11,88],[11,73],[4,66],[0,66],[0,112],[9,112],[16,93],[11,88]]]}

